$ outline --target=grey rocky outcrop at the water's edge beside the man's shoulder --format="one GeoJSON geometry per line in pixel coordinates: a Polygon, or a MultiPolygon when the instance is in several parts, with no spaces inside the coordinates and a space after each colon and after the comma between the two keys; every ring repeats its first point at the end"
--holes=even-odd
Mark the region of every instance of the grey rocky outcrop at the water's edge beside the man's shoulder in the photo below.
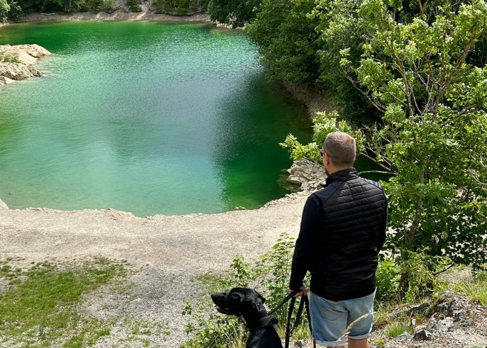
{"type": "Polygon", "coordinates": [[[301,186],[301,190],[303,191],[316,191],[320,189],[320,184],[326,179],[325,168],[308,159],[294,161],[288,173],[289,177],[287,177],[287,182],[301,186]]]}

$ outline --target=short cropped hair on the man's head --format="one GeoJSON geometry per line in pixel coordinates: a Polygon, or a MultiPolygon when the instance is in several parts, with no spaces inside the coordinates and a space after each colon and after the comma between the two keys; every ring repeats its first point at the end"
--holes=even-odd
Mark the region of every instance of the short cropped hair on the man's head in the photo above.
{"type": "Polygon", "coordinates": [[[344,132],[332,132],[326,136],[323,150],[330,155],[330,161],[335,166],[353,166],[357,157],[355,139],[344,132]]]}

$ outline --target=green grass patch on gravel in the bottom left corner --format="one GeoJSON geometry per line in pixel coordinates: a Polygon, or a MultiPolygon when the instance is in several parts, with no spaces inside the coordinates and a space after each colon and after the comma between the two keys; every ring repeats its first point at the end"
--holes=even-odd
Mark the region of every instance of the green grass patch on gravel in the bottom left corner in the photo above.
{"type": "Polygon", "coordinates": [[[97,319],[83,319],[77,312],[81,295],[115,278],[125,277],[122,265],[98,259],[78,269],[59,269],[49,262],[26,271],[1,262],[0,278],[9,280],[0,294],[0,332],[21,347],[86,347],[110,334],[97,319]],[[74,335],[73,335],[74,334],[74,335]]]}

